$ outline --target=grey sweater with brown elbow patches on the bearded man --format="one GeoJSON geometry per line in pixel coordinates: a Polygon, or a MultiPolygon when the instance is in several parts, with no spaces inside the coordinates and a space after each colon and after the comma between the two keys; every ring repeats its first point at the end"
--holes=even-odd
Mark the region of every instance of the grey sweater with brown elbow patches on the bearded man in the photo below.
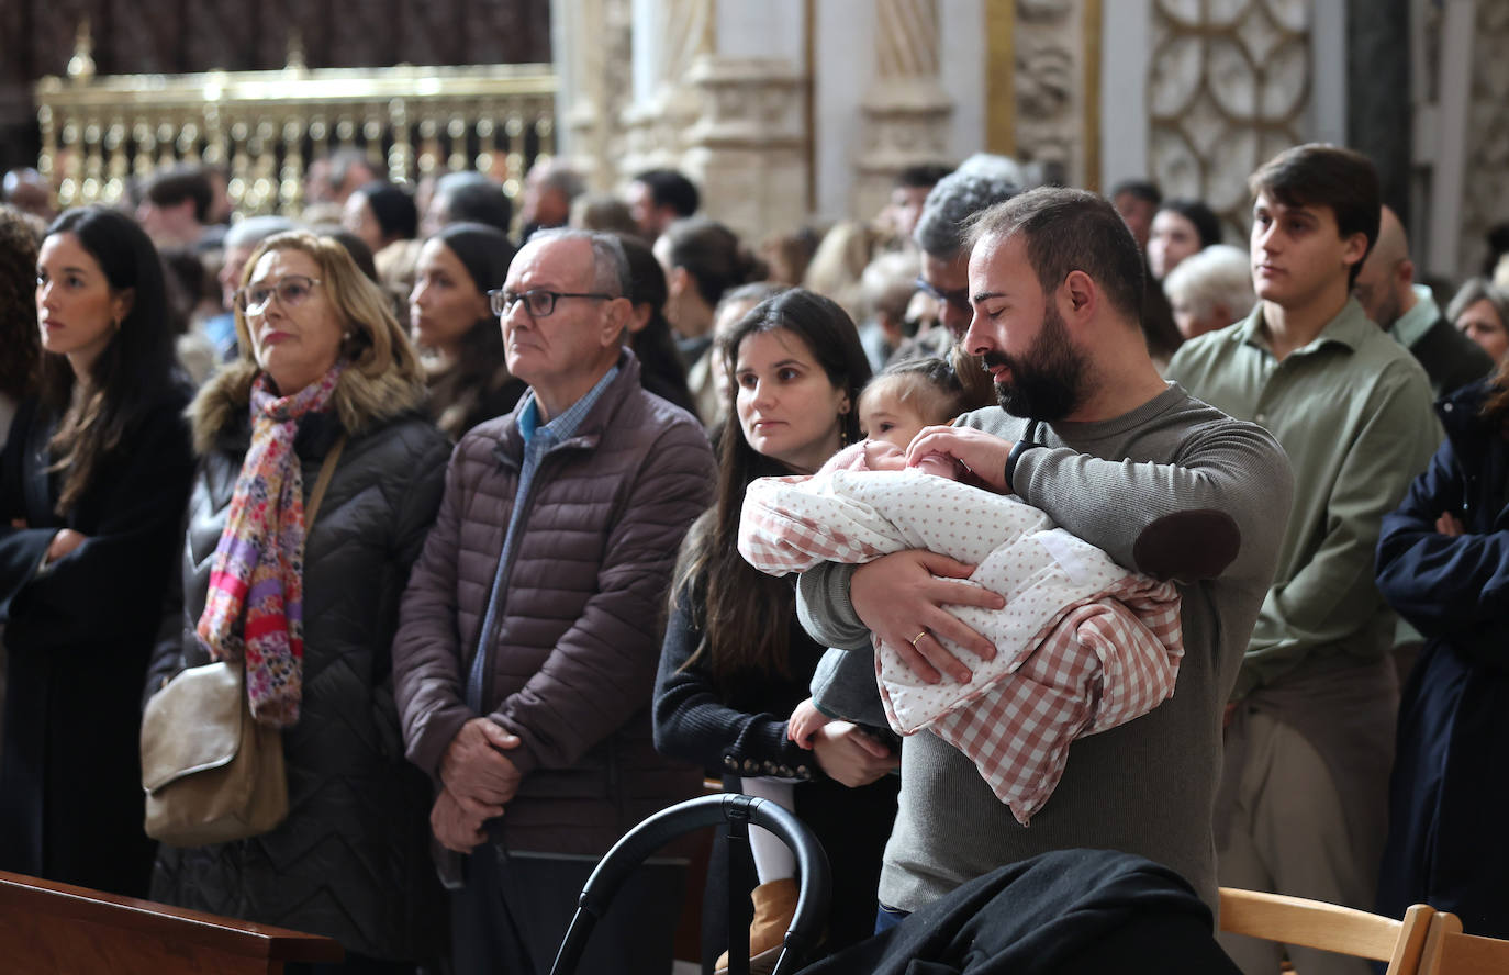
{"type": "MultiPolygon", "coordinates": [[[[1114,420],[1043,424],[988,408],[960,426],[1040,444],[1011,472],[1022,500],[1121,566],[1177,583],[1185,660],[1168,702],[1073,744],[1031,827],[961,752],[928,732],[905,738],[880,900],[916,910],[1005,863],[1099,847],[1171,866],[1215,907],[1221,717],[1284,537],[1283,450],[1176,383],[1114,420]]],[[[848,598],[853,572],[828,563],[804,574],[798,611],[816,640],[868,649],[848,598]]]]}

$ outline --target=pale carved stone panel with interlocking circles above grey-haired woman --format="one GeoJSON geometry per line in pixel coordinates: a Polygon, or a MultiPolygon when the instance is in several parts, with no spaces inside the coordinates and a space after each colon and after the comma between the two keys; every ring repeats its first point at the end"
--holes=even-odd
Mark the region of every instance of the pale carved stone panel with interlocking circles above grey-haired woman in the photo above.
{"type": "Polygon", "coordinates": [[[1310,0],[1154,0],[1148,171],[1245,237],[1248,175],[1304,142],[1310,0]]]}

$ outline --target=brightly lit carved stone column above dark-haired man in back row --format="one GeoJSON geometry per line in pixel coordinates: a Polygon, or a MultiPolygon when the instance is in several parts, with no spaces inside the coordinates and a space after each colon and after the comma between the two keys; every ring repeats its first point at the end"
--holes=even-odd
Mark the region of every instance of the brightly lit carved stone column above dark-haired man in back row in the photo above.
{"type": "Polygon", "coordinates": [[[714,50],[714,0],[658,0],[647,42],[635,42],[634,57],[649,57],[656,77],[650,92],[637,92],[620,118],[625,128],[619,175],[632,177],[650,166],[676,166],[687,148],[687,133],[697,121],[700,100],[690,80],[702,54],[714,50]]]}

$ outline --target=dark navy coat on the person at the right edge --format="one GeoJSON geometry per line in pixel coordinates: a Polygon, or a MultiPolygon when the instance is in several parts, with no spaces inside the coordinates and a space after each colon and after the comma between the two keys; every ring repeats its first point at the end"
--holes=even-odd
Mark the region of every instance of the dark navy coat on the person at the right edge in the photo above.
{"type": "Polygon", "coordinates": [[[1479,417],[1485,391],[1441,400],[1446,442],[1378,540],[1378,587],[1428,640],[1399,705],[1379,909],[1428,903],[1509,937],[1509,442],[1479,417]],[[1443,512],[1465,534],[1440,534],[1443,512]]]}

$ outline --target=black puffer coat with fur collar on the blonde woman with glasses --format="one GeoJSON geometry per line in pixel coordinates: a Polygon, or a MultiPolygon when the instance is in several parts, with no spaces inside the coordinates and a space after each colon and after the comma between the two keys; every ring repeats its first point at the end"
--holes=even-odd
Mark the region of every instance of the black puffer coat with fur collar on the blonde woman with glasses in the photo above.
{"type": "MultiPolygon", "coordinates": [[[[189,503],[183,601],[163,622],[148,688],[207,663],[193,629],[250,442],[250,373],[220,373],[192,408],[199,475],[189,503]]],[[[335,409],[300,423],[305,497],[347,433],[309,528],[303,574],[303,703],[284,730],[288,818],[254,839],[158,851],[152,897],[326,934],[347,951],[423,958],[444,939],[429,857],[430,789],[403,758],[392,634],[409,567],[444,489],[450,447],[416,411],[423,386],[341,376],[335,409]]]]}

